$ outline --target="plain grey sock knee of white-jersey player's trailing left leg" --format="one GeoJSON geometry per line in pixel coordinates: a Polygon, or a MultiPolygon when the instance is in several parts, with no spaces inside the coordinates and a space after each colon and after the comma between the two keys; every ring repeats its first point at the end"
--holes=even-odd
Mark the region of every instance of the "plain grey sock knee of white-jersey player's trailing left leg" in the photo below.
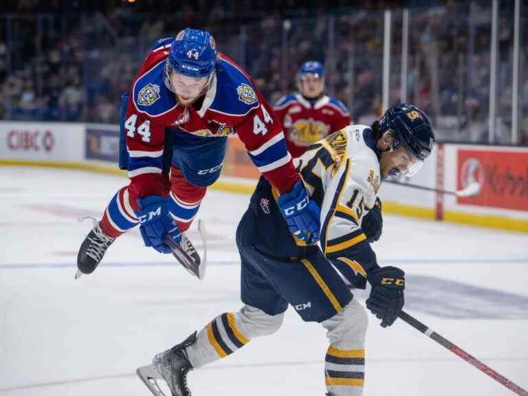
{"type": "Polygon", "coordinates": [[[236,324],[247,338],[269,336],[283,324],[284,314],[268,315],[259,308],[244,305],[235,314],[236,324]]]}

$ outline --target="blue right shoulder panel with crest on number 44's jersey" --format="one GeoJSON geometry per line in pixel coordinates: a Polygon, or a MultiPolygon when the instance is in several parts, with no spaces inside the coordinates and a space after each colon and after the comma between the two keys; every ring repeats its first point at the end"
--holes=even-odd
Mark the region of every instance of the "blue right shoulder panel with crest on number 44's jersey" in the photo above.
{"type": "Polygon", "coordinates": [[[217,92],[209,107],[226,115],[242,116],[259,107],[259,97],[248,74],[227,56],[217,65],[217,92]]]}

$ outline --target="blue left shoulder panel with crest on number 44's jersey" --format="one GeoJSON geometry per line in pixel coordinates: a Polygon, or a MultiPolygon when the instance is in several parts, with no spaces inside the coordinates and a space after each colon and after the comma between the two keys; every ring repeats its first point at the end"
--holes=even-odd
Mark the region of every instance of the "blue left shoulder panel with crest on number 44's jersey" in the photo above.
{"type": "Polygon", "coordinates": [[[137,111],[151,117],[163,115],[177,106],[174,94],[165,85],[165,58],[135,80],[133,95],[137,111]]]}

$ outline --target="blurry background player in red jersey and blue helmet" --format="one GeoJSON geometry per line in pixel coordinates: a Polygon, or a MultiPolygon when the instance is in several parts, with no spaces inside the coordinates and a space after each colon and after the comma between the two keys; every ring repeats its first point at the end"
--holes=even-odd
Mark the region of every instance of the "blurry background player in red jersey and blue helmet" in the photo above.
{"type": "Polygon", "coordinates": [[[303,155],[330,133],[350,124],[350,113],[340,100],[325,95],[325,74],[319,62],[303,63],[297,74],[298,92],[284,96],[275,104],[275,113],[285,131],[288,151],[303,155]]]}

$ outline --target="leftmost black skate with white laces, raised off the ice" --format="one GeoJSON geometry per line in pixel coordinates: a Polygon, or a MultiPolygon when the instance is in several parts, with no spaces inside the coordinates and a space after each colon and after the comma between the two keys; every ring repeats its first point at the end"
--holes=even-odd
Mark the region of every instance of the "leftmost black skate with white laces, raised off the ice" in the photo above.
{"type": "Polygon", "coordinates": [[[84,219],[91,219],[94,222],[94,228],[86,236],[83,244],[80,245],[77,255],[77,267],[79,270],[75,276],[76,278],[81,273],[91,274],[94,272],[108,247],[115,241],[115,238],[111,238],[102,232],[101,226],[96,219],[93,217],[83,217],[79,220],[82,221],[84,219]]]}

